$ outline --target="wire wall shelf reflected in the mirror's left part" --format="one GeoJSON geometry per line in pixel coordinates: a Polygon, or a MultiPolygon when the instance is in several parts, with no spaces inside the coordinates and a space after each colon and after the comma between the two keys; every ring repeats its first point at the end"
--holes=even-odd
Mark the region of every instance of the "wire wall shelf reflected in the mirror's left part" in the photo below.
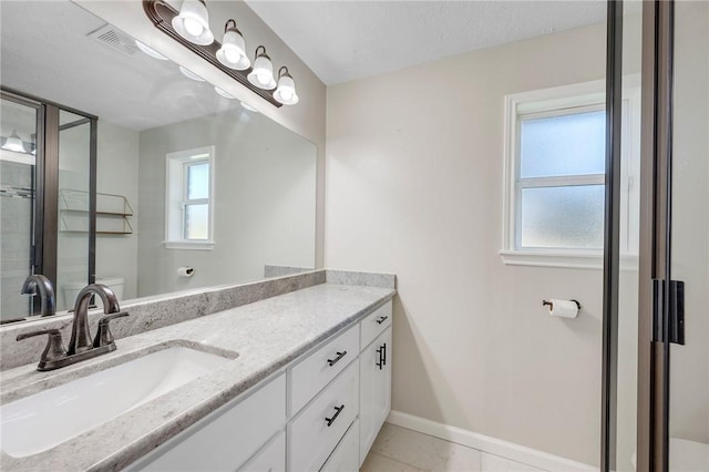
{"type": "MultiPolygon", "coordinates": [[[[89,233],[89,192],[59,191],[62,233],[89,233]]],[[[131,235],[133,208],[123,195],[96,194],[96,235],[131,235]]]]}

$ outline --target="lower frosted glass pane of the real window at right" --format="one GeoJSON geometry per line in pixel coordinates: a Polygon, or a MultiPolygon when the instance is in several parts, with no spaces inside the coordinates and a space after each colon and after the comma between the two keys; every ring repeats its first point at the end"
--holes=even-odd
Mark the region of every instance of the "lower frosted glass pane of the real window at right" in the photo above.
{"type": "Polygon", "coordinates": [[[522,189],[522,247],[603,248],[604,185],[522,189]]]}

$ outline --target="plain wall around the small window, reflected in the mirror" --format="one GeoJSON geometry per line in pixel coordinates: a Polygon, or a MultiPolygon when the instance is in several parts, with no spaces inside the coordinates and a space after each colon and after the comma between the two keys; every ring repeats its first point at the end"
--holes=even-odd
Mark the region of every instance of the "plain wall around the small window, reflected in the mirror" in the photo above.
{"type": "Polygon", "coordinates": [[[264,278],[315,263],[315,145],[237,107],[141,132],[138,296],[264,278]],[[166,249],[167,153],[214,146],[214,249],[166,249]],[[177,277],[192,266],[195,275],[177,277]]]}

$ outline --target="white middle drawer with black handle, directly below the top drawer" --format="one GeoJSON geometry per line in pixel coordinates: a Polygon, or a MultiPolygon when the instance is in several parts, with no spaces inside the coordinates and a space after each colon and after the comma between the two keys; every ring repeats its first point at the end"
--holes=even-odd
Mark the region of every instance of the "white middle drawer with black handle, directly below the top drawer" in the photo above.
{"type": "Polygon", "coordinates": [[[359,362],[352,362],[288,425],[290,470],[319,470],[358,410],[359,362]]]}

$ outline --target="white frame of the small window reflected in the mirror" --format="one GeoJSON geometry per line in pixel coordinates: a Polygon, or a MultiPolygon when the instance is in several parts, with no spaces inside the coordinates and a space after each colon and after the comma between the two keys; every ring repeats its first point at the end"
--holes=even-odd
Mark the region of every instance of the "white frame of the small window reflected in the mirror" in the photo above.
{"type": "Polygon", "coordinates": [[[214,248],[214,146],[167,153],[165,157],[165,240],[167,249],[212,250],[214,248]],[[195,164],[209,164],[209,196],[187,198],[187,168],[195,164]],[[185,238],[185,206],[207,204],[208,234],[206,239],[185,238]]]}

